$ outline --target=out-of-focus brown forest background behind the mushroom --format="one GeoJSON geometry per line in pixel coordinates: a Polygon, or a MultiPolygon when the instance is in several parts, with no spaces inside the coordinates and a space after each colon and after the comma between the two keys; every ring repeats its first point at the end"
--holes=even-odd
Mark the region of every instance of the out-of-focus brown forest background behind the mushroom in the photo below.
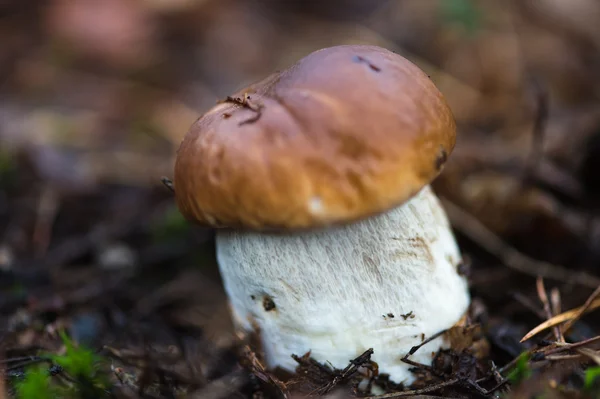
{"type": "Polygon", "coordinates": [[[66,328],[225,375],[211,232],[161,177],[217,100],[311,51],[375,44],[455,113],[434,189],[510,360],[542,320],[537,276],[570,309],[600,275],[598,21],[597,0],[1,0],[0,356],[57,348],[66,328]]]}

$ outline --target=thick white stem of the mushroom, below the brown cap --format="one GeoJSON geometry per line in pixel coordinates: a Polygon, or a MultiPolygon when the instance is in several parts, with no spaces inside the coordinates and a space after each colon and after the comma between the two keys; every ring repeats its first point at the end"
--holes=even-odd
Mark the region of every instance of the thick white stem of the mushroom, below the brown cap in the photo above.
{"type": "MultiPolygon", "coordinates": [[[[360,222],[286,234],[220,231],[217,259],[236,325],[260,329],[269,367],[291,355],[344,368],[368,348],[381,373],[409,384],[400,359],[467,311],[460,252],[429,186],[360,222]]],[[[443,338],[412,360],[431,364],[443,338]]]]}

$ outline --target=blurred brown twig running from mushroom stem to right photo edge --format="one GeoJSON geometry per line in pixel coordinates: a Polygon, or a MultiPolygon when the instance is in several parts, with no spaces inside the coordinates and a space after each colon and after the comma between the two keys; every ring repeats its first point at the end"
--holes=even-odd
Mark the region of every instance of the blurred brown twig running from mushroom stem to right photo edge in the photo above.
{"type": "Polygon", "coordinates": [[[500,237],[448,199],[441,197],[452,225],[507,267],[533,277],[544,277],[560,282],[574,282],[584,287],[596,288],[600,278],[585,272],[573,272],[563,266],[532,259],[505,243],[500,237]]]}

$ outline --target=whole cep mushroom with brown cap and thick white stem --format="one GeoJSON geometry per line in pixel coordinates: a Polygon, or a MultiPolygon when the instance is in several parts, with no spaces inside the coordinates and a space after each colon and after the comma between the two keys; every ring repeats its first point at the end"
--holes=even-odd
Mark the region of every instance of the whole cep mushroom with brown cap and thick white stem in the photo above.
{"type": "MultiPolygon", "coordinates": [[[[176,202],[215,227],[233,319],[260,330],[268,366],[336,368],[368,348],[400,359],[463,320],[460,252],[430,183],[456,125],[429,77],[391,51],[343,45],[214,106],[177,153],[176,202]]],[[[431,364],[442,336],[412,360],[431,364]]]]}

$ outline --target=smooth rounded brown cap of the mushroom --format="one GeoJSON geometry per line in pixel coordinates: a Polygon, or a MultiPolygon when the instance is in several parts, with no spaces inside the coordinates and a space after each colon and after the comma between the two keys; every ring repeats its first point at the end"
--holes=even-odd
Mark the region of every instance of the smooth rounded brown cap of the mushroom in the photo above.
{"type": "Polygon", "coordinates": [[[325,48],[192,125],[177,153],[176,201],[212,227],[347,223],[419,192],[455,140],[450,108],[413,63],[376,46],[325,48]]]}

